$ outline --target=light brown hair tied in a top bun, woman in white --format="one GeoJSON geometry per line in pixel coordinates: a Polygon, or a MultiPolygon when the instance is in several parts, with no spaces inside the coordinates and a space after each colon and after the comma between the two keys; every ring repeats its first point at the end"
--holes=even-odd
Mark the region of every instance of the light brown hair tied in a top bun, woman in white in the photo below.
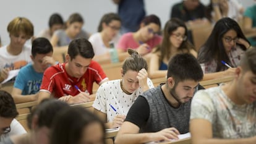
{"type": "Polygon", "coordinates": [[[124,64],[122,64],[123,74],[126,74],[128,70],[133,70],[136,72],[139,72],[141,69],[148,70],[147,61],[143,59],[143,57],[140,56],[137,51],[128,49],[128,53],[130,56],[126,59],[126,61],[124,61],[124,64]]]}

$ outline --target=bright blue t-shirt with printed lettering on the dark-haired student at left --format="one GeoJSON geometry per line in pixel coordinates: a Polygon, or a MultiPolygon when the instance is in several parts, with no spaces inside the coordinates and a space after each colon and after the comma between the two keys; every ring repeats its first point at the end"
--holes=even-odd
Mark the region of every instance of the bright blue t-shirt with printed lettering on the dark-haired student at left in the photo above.
{"type": "Polygon", "coordinates": [[[43,72],[36,72],[32,64],[20,69],[14,83],[15,88],[22,90],[22,95],[32,95],[40,90],[43,72]]]}

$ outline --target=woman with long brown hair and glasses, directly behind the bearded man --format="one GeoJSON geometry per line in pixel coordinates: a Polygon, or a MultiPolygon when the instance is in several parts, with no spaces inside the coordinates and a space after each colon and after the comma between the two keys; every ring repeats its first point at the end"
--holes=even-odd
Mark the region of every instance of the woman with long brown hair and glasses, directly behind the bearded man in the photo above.
{"type": "Polygon", "coordinates": [[[151,54],[150,78],[166,77],[168,61],[178,53],[191,53],[197,57],[194,46],[187,40],[187,27],[182,20],[168,20],[163,30],[163,41],[151,54]]]}

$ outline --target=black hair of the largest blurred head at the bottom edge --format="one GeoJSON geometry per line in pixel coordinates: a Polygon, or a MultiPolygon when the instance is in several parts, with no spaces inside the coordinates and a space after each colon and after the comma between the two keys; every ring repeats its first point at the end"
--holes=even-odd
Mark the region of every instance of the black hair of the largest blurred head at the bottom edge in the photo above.
{"type": "Polygon", "coordinates": [[[65,109],[54,119],[50,143],[79,143],[82,138],[83,129],[95,122],[101,125],[103,142],[105,143],[105,126],[98,117],[82,107],[65,109]]]}

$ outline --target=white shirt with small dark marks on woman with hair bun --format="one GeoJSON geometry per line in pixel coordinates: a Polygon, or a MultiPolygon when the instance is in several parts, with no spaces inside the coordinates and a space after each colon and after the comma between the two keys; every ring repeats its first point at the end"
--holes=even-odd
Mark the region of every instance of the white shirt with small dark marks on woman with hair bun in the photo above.
{"type": "MultiPolygon", "coordinates": [[[[127,115],[130,107],[137,99],[137,97],[143,93],[142,88],[138,88],[134,93],[127,95],[122,91],[121,80],[111,80],[103,83],[96,92],[96,98],[93,103],[93,108],[98,109],[107,115],[107,121],[112,122],[114,117],[118,114],[127,115]],[[111,108],[111,106],[116,109],[111,108]]],[[[148,87],[153,88],[154,85],[150,78],[147,79],[148,87]]]]}

